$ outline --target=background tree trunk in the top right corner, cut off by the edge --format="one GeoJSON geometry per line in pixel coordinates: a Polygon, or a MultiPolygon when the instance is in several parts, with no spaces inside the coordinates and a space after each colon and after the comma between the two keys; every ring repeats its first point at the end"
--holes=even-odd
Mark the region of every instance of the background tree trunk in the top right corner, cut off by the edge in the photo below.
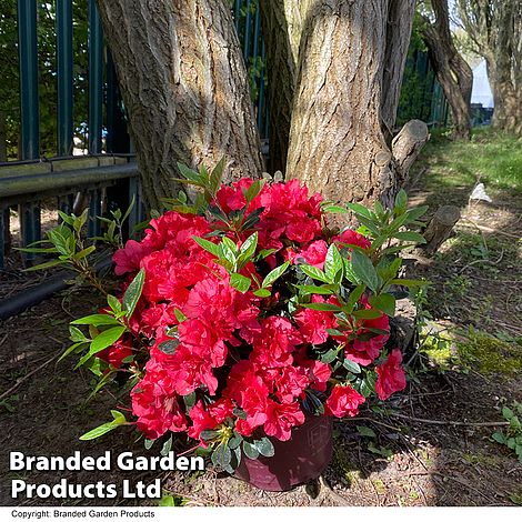
{"type": "Polygon", "coordinates": [[[458,7],[476,52],[488,64],[492,126],[522,137],[522,2],[458,0],[458,7]]]}

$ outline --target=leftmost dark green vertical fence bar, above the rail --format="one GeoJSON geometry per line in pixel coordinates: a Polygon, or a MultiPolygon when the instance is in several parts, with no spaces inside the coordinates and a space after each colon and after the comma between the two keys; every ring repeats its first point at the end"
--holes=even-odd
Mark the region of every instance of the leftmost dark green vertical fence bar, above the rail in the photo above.
{"type": "Polygon", "coordinates": [[[20,157],[32,160],[40,155],[36,0],[18,0],[18,53],[22,128],[20,157]]]}

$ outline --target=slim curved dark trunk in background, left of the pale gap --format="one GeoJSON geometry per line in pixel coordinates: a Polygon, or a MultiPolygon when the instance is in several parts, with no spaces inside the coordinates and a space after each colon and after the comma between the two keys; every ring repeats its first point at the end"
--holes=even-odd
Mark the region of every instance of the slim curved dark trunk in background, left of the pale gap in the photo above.
{"type": "Polygon", "coordinates": [[[469,140],[471,138],[470,102],[473,72],[453,43],[448,0],[432,0],[431,6],[435,20],[432,22],[428,17],[423,17],[423,38],[436,78],[450,103],[453,137],[469,140]]]}

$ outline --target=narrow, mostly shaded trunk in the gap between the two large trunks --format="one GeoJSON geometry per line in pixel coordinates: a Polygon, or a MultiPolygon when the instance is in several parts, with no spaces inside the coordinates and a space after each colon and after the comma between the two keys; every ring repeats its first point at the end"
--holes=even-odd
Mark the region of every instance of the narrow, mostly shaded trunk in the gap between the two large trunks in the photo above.
{"type": "Polygon", "coordinates": [[[269,171],[284,173],[301,34],[312,0],[261,0],[270,107],[269,171]]]}

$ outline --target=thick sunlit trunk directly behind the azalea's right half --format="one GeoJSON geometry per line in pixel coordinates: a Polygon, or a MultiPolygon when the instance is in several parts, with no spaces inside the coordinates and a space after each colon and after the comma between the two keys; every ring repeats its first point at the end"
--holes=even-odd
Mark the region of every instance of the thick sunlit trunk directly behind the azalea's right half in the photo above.
{"type": "Polygon", "coordinates": [[[392,3],[315,1],[303,26],[287,177],[332,201],[391,205],[402,182],[389,129],[414,1],[392,3]]]}

